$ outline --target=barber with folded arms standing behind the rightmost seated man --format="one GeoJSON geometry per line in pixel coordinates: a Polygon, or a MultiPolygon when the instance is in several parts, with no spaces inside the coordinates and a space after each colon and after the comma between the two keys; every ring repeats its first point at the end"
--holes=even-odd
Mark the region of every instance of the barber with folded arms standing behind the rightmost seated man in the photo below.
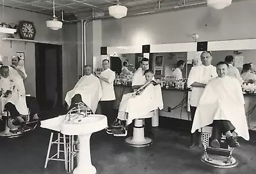
{"type": "MultiPolygon", "coordinates": [[[[191,99],[190,99],[190,111],[191,111],[191,120],[193,120],[196,113],[196,106],[200,100],[204,87],[207,85],[209,80],[218,76],[216,73],[216,67],[211,65],[212,54],[211,52],[202,52],[200,55],[202,65],[195,66],[191,69],[188,76],[188,87],[191,87],[191,99]]],[[[199,143],[199,133],[198,130],[195,133],[191,134],[191,145],[194,147],[199,143]]]]}

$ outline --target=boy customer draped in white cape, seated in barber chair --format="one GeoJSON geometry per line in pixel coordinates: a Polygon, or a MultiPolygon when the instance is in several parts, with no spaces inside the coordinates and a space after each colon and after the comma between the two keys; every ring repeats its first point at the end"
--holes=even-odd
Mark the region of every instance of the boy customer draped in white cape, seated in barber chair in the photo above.
{"type": "MultiPolygon", "coordinates": [[[[158,83],[154,82],[153,78],[153,71],[147,69],[145,71],[145,85],[122,97],[117,117],[121,124],[109,127],[107,133],[111,134],[111,129],[122,129],[122,127],[128,126],[134,119],[148,119],[148,113],[157,108],[163,109],[161,86],[157,85],[158,83]]],[[[125,129],[122,130],[125,131],[125,129]]]]}

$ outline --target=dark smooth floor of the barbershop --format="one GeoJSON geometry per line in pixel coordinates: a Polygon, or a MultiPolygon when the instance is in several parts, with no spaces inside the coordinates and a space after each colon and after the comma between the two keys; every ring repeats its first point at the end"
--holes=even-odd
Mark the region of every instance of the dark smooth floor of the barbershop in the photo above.
{"type": "MultiPolygon", "coordinates": [[[[58,115],[45,112],[44,117],[58,115]]],[[[36,129],[23,137],[0,139],[0,169],[3,174],[58,174],[66,173],[64,162],[49,161],[44,169],[51,131],[36,129]]],[[[113,137],[104,131],[92,134],[92,164],[97,174],[236,174],[256,173],[256,143],[241,142],[234,150],[239,165],[232,169],[218,169],[200,161],[202,149],[188,149],[188,132],[158,128],[154,143],[135,148],[125,145],[124,138],[113,137]]],[[[86,174],[86,173],[84,173],[86,174]]]]}

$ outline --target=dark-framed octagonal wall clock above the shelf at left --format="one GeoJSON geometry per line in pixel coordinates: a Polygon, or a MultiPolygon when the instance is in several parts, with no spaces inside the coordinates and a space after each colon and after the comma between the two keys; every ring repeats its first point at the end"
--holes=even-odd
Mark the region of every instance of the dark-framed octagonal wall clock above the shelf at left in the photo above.
{"type": "Polygon", "coordinates": [[[19,22],[20,38],[24,40],[34,40],[36,35],[36,28],[33,22],[22,20],[19,22]]]}

